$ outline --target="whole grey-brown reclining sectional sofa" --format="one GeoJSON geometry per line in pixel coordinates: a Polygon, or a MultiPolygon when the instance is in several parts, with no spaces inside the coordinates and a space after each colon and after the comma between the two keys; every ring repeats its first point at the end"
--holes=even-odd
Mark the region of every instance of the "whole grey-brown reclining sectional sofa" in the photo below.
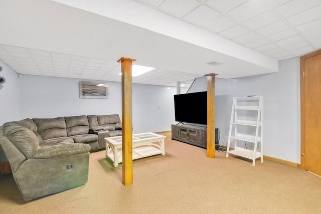
{"type": "Polygon", "coordinates": [[[104,137],[121,135],[119,115],[24,119],[0,126],[0,145],[25,200],[57,193],[88,180],[89,152],[104,137]]]}

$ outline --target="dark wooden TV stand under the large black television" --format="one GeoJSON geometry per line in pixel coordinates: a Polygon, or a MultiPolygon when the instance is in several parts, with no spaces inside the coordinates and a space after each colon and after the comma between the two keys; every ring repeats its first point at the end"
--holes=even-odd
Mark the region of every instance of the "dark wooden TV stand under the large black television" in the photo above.
{"type": "Polygon", "coordinates": [[[202,126],[172,124],[172,139],[206,148],[207,129],[202,126]]]}

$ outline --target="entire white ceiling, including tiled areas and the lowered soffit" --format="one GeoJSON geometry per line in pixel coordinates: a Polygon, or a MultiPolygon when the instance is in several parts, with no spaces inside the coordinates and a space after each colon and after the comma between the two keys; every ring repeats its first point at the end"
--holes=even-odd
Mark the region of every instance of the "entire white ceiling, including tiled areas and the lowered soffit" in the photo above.
{"type": "Polygon", "coordinates": [[[20,74],[120,82],[128,57],[156,68],[133,83],[189,85],[319,48],[321,0],[0,1],[0,59],[20,74]]]}

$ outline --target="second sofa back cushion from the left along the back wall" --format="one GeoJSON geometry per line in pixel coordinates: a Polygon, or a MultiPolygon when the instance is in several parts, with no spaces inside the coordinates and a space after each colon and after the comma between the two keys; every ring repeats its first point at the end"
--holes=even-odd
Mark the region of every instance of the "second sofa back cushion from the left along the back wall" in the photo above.
{"type": "Polygon", "coordinates": [[[88,118],[85,115],[65,117],[67,126],[67,135],[75,136],[80,134],[88,134],[89,123],[88,118]]]}

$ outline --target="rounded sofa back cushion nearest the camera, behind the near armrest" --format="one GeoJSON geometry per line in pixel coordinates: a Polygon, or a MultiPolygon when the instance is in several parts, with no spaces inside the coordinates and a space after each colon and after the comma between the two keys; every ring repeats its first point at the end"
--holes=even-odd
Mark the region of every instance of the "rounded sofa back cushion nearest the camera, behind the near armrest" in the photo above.
{"type": "Polygon", "coordinates": [[[4,132],[7,138],[26,156],[33,157],[38,149],[39,141],[34,132],[18,125],[4,124],[4,132]],[[6,125],[6,126],[5,126],[6,125]]]}

